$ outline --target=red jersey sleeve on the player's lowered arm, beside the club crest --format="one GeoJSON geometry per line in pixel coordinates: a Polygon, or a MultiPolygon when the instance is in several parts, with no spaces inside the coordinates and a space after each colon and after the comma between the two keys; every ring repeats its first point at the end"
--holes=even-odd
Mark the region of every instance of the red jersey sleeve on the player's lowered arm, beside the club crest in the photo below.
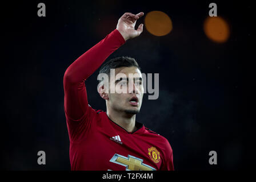
{"type": "Polygon", "coordinates": [[[165,139],[165,146],[166,146],[165,158],[163,160],[160,170],[161,171],[174,171],[173,149],[171,148],[171,145],[167,139],[165,139]]]}

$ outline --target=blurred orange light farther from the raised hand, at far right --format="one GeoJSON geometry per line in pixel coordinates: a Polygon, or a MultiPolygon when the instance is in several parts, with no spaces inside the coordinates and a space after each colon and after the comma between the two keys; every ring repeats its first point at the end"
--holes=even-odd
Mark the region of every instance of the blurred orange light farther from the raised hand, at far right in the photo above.
{"type": "Polygon", "coordinates": [[[206,36],[214,42],[224,43],[229,39],[229,24],[219,16],[207,17],[203,24],[203,30],[206,36]]]}

